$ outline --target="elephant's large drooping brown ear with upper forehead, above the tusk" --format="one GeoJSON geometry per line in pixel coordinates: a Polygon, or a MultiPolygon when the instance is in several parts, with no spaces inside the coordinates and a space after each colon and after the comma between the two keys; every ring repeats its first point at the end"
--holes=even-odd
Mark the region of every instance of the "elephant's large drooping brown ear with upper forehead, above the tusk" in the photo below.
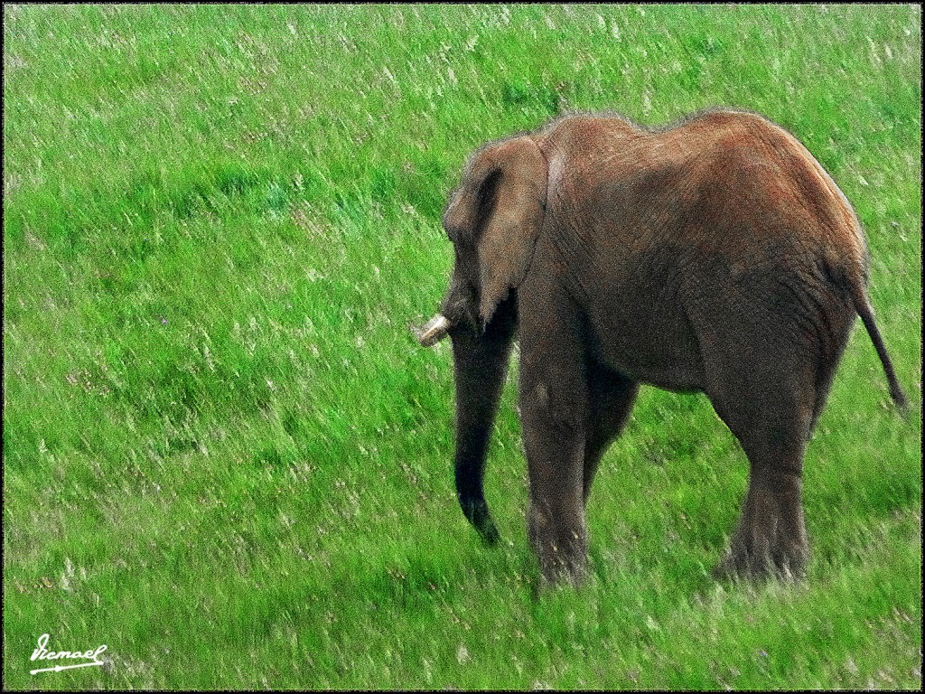
{"type": "Polygon", "coordinates": [[[483,328],[524,281],[546,211],[547,164],[536,142],[520,137],[478,152],[445,217],[448,230],[474,242],[483,328]]]}

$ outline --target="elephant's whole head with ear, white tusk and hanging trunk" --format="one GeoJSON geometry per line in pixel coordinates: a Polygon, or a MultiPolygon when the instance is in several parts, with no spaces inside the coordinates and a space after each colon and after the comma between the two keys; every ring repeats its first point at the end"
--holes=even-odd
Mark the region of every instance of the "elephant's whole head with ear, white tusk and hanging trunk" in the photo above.
{"type": "Polygon", "coordinates": [[[546,208],[547,165],[533,139],[473,155],[443,216],[455,264],[440,313],[418,331],[424,346],[450,336],[456,385],[456,489],[484,539],[498,531],[482,490],[488,438],[516,328],[514,293],[536,247],[546,208]]]}

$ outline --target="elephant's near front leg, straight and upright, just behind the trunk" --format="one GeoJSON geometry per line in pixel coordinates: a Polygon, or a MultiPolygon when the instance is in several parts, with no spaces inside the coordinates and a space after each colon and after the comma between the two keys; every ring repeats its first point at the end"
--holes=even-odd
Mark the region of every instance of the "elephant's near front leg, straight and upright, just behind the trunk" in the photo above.
{"type": "MultiPolygon", "coordinates": [[[[523,348],[522,348],[523,349],[523,348]]],[[[581,582],[587,561],[586,384],[569,358],[521,366],[521,418],[530,478],[527,527],[544,584],[581,582]]]]}

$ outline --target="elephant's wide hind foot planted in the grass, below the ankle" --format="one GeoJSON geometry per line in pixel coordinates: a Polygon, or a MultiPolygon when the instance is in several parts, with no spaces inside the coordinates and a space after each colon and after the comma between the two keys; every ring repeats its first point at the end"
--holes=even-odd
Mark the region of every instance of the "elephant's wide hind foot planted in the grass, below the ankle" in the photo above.
{"type": "Polygon", "coordinates": [[[739,527],[713,570],[720,579],[799,580],[809,558],[800,479],[765,473],[751,480],[739,527]]]}

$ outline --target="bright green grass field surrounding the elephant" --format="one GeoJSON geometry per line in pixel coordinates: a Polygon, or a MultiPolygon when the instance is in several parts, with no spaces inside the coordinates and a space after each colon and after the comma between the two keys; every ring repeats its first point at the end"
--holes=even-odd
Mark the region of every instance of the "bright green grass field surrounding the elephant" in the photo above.
{"type": "Polygon", "coordinates": [[[4,41],[6,688],[920,688],[919,6],[5,5],[4,41]],[[856,329],[808,579],[736,586],[709,570],[745,456],[705,397],[644,389],[590,580],[535,601],[513,384],[493,550],[449,346],[408,330],[447,192],[563,111],[709,105],[855,205],[912,412],[856,329]],[[30,675],[43,633],[105,667],[30,675]]]}

